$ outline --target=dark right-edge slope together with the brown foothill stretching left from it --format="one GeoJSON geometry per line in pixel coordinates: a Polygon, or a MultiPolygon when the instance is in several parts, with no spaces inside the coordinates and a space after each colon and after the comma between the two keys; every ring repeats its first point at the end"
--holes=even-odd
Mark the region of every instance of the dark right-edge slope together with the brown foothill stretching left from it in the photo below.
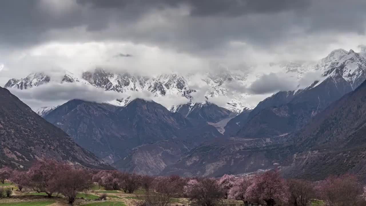
{"type": "Polygon", "coordinates": [[[354,173],[365,181],[365,94],[366,82],[284,136],[201,145],[163,174],[221,176],[279,168],[292,178],[321,180],[330,174],[354,173]]]}

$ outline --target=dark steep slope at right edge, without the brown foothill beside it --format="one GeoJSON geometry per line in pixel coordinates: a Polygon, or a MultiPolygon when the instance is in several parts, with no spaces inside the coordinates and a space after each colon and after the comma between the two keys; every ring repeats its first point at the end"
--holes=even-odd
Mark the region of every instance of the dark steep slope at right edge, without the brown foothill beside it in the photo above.
{"type": "Polygon", "coordinates": [[[366,180],[365,99],[363,82],[291,135],[296,153],[284,162],[285,174],[321,179],[351,172],[366,180]]]}

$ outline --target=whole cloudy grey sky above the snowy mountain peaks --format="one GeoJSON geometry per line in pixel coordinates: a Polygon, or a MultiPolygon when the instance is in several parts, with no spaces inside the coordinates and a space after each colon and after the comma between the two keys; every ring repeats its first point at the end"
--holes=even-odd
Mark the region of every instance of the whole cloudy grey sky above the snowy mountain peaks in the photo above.
{"type": "Polygon", "coordinates": [[[224,65],[255,68],[281,89],[270,63],[365,48],[365,11],[364,0],[4,0],[0,85],[36,71],[154,75],[224,65]]]}

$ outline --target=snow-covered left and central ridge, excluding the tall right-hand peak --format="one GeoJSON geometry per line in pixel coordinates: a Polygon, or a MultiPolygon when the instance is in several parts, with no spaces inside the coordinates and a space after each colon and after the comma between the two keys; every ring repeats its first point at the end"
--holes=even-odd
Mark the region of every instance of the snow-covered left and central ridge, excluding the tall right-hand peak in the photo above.
{"type": "MultiPolygon", "coordinates": [[[[202,90],[202,98],[214,98],[220,96],[232,96],[225,108],[240,113],[244,108],[242,96],[234,96],[224,87],[224,83],[228,81],[241,81],[244,84],[246,74],[188,74],[180,76],[178,74],[160,74],[156,77],[132,76],[128,73],[111,73],[103,69],[96,69],[93,72],[83,72],[82,78],[76,77],[74,74],[67,72],[61,80],[63,82],[81,82],[92,85],[97,88],[102,88],[107,91],[126,92],[126,91],[150,91],[155,97],[165,95],[178,95],[186,97],[189,100],[194,100],[193,92],[202,90]],[[191,86],[193,85],[193,86],[191,86]],[[197,87],[198,85],[198,87],[197,87]],[[194,87],[191,88],[191,87],[194,87]],[[196,88],[197,87],[197,88],[196,88]]],[[[25,78],[11,79],[5,84],[5,87],[16,89],[29,89],[41,84],[52,81],[45,73],[30,74],[25,78]]],[[[108,102],[116,106],[126,106],[129,100],[116,100],[108,102]]],[[[202,101],[204,103],[204,101],[202,101]]],[[[249,107],[254,107],[251,105],[249,107]]],[[[170,108],[169,108],[170,109],[170,108]]],[[[39,109],[42,113],[43,109],[39,109]]]]}

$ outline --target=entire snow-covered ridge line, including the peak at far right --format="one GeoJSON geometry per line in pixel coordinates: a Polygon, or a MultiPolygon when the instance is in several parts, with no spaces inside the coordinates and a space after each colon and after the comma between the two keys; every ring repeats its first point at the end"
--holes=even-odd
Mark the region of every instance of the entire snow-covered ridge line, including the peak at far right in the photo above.
{"type": "MultiPolygon", "coordinates": [[[[320,71],[324,77],[341,74],[354,88],[361,84],[361,80],[366,78],[365,56],[354,52],[352,49],[349,52],[344,49],[336,49],[317,62],[288,62],[274,66],[280,67],[284,73],[289,73],[291,77],[296,79],[302,78],[309,71],[320,71]]],[[[251,82],[255,81],[257,76],[258,74],[255,75],[250,71],[230,71],[227,69],[217,73],[205,72],[187,75],[171,73],[146,77],[96,69],[83,72],[81,77],[66,72],[61,83],[81,82],[107,91],[117,92],[149,91],[155,97],[183,96],[192,105],[197,102],[205,104],[207,101],[215,103],[215,98],[223,98],[226,102],[223,107],[238,114],[244,109],[252,109],[256,105],[246,101],[247,98],[251,97],[251,94],[232,91],[232,88],[227,87],[227,84],[235,82],[243,85],[243,87],[248,87],[251,82]]],[[[25,78],[9,80],[5,84],[5,88],[29,89],[50,81],[56,80],[52,80],[45,73],[34,73],[25,78]]],[[[129,99],[124,99],[108,103],[116,106],[126,106],[129,102],[129,99]]],[[[168,109],[175,111],[176,108],[178,108],[178,105],[168,109]]],[[[41,108],[38,111],[43,113],[43,110],[47,109],[41,108]]]]}

